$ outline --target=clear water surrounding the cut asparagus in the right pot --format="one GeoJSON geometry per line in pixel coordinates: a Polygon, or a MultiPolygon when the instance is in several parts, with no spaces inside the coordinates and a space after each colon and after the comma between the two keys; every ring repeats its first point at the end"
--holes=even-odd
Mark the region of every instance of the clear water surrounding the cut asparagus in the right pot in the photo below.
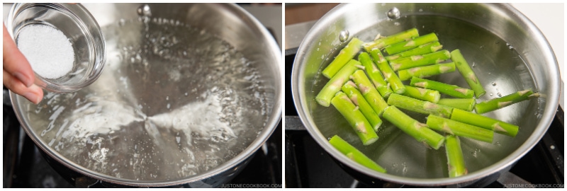
{"type": "MultiPolygon", "coordinates": [[[[395,14],[392,15],[395,16],[395,14]]],[[[485,96],[476,100],[477,103],[515,93],[516,91],[525,89],[538,91],[539,89],[534,82],[532,72],[530,72],[529,67],[522,59],[522,54],[514,48],[522,47],[521,45],[506,42],[502,37],[498,37],[494,33],[480,28],[478,25],[455,18],[425,15],[401,16],[395,20],[379,22],[366,30],[361,30],[359,33],[352,33],[351,31],[351,37],[358,37],[365,42],[369,42],[378,33],[391,35],[410,28],[417,28],[420,35],[436,33],[444,50],[453,51],[459,49],[468,63],[474,64],[473,71],[479,77],[486,91],[485,96]]],[[[348,28],[337,31],[342,30],[348,30],[348,28]]],[[[305,76],[311,78],[308,81],[313,81],[313,84],[307,85],[308,87],[306,88],[308,100],[314,100],[313,98],[327,83],[328,79],[322,76],[320,71],[332,62],[333,57],[342,48],[334,45],[334,42],[340,42],[342,33],[336,32],[333,35],[335,35],[334,38],[329,39],[334,40],[333,42],[327,42],[327,39],[324,39],[324,43],[322,45],[319,44],[315,48],[320,48],[322,51],[330,51],[322,53],[321,57],[315,55],[313,60],[310,60],[310,62],[320,62],[321,64],[313,64],[311,68],[305,69],[306,73],[308,73],[305,76]],[[317,66],[319,67],[317,68],[317,66]],[[313,68],[318,69],[318,71],[310,70],[313,68]]],[[[342,44],[345,45],[346,42],[342,44]]],[[[468,87],[464,78],[457,71],[432,76],[429,79],[468,87]]],[[[409,81],[405,81],[405,84],[408,83],[409,81]]],[[[443,97],[448,96],[443,95],[443,97]]],[[[539,106],[541,105],[540,101],[539,99],[532,99],[483,114],[519,125],[520,131],[516,137],[495,134],[492,144],[472,139],[461,139],[461,148],[464,152],[468,172],[474,173],[477,170],[498,163],[498,161],[509,156],[512,151],[520,148],[532,134],[534,128],[537,127],[537,123],[541,118],[541,115],[538,115],[542,112],[539,106]]],[[[344,117],[334,107],[320,107],[315,101],[310,103],[309,107],[310,115],[313,116],[313,122],[324,137],[332,137],[338,134],[369,156],[369,158],[376,161],[376,163],[386,168],[389,174],[410,178],[447,177],[447,156],[444,148],[438,150],[427,149],[427,146],[415,141],[415,139],[401,132],[398,127],[395,127],[388,121],[384,121],[380,129],[378,129],[378,141],[374,144],[363,146],[347,120],[344,120],[344,117]],[[400,163],[404,165],[400,166],[400,163]]],[[[425,117],[427,115],[407,110],[403,112],[415,120],[426,122],[425,117]]]]}

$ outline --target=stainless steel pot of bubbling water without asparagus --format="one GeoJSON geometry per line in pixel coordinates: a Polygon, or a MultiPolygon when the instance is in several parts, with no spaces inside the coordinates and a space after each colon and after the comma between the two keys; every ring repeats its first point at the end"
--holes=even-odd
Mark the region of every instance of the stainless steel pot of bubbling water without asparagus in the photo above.
{"type": "Polygon", "coordinates": [[[216,187],[281,120],[281,50],[235,4],[84,4],[107,62],[74,93],[11,93],[48,161],[106,185],[216,187]]]}

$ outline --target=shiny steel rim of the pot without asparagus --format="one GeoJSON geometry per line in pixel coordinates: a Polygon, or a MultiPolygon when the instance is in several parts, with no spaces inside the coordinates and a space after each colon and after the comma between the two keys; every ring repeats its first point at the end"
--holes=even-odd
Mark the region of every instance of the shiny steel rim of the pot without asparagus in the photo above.
{"type": "MultiPolygon", "coordinates": [[[[276,42],[276,40],[274,39],[274,37],[271,36],[271,34],[264,27],[264,25],[262,25],[262,23],[260,23],[257,20],[257,18],[252,16],[251,13],[246,11],[244,8],[238,6],[237,4],[218,4],[218,5],[224,6],[225,8],[233,11],[234,13],[237,13],[240,16],[241,19],[247,19],[247,22],[252,24],[251,27],[254,27],[255,30],[259,30],[259,33],[262,34],[262,37],[264,38],[264,42],[269,44],[269,47],[272,50],[272,53],[274,55],[279,56],[279,58],[282,58],[281,47],[279,47],[279,45],[276,42]]],[[[69,169],[77,171],[77,172],[81,173],[82,175],[86,175],[89,178],[95,178],[97,180],[102,180],[102,181],[107,182],[107,183],[113,183],[113,184],[118,184],[118,185],[126,185],[126,186],[133,186],[133,187],[169,187],[169,186],[173,186],[173,185],[184,185],[184,184],[187,184],[187,183],[195,183],[195,182],[198,182],[198,181],[201,181],[201,180],[205,180],[207,178],[211,178],[215,175],[218,175],[220,173],[223,173],[223,172],[229,170],[230,168],[234,168],[235,166],[239,165],[240,163],[246,161],[247,158],[250,158],[253,154],[256,153],[256,151],[260,148],[260,146],[262,146],[262,144],[264,144],[266,142],[266,140],[274,132],[278,123],[281,121],[281,114],[282,114],[281,100],[283,100],[283,90],[281,88],[283,86],[283,84],[282,84],[283,81],[281,80],[283,78],[283,74],[282,74],[283,65],[281,64],[281,59],[276,59],[274,61],[274,63],[277,64],[276,69],[279,73],[278,76],[275,76],[276,79],[274,80],[274,82],[275,82],[276,86],[277,85],[279,85],[279,86],[277,86],[275,88],[276,94],[275,94],[275,97],[274,97],[274,100],[275,100],[274,105],[273,105],[272,110],[271,110],[272,112],[270,113],[271,117],[266,122],[266,125],[264,126],[264,130],[262,130],[262,133],[260,133],[258,135],[258,137],[254,141],[252,141],[251,144],[249,144],[247,146],[246,149],[244,149],[242,152],[240,152],[240,154],[237,154],[237,156],[231,158],[230,160],[226,161],[225,163],[223,163],[219,166],[216,166],[212,170],[208,170],[204,173],[201,173],[201,174],[198,174],[198,175],[193,175],[193,176],[190,176],[188,178],[181,178],[181,179],[178,179],[178,180],[154,181],[154,180],[130,180],[130,179],[125,179],[125,178],[116,178],[116,177],[113,177],[111,175],[105,175],[103,173],[98,173],[94,170],[84,168],[83,166],[80,166],[77,163],[69,161],[64,156],[61,156],[56,151],[53,151],[52,149],[50,149],[49,146],[46,146],[47,143],[45,143],[41,139],[38,139],[35,136],[35,133],[30,130],[28,122],[25,122],[23,120],[23,117],[21,117],[22,110],[18,106],[18,102],[16,101],[17,99],[23,99],[23,97],[18,96],[16,93],[13,93],[12,91],[10,91],[10,99],[11,99],[11,103],[13,105],[13,110],[16,111],[16,117],[18,118],[18,121],[20,122],[20,124],[23,127],[26,134],[28,134],[30,139],[33,140],[35,145],[38,146],[43,152],[45,152],[45,154],[48,154],[51,158],[54,158],[55,161],[63,164],[65,167],[67,167],[69,169]]]]}

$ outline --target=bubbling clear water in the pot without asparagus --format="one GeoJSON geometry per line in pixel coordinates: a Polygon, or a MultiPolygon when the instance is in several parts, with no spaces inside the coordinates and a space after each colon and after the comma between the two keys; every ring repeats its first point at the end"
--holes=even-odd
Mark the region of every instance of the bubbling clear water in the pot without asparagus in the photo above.
{"type": "Polygon", "coordinates": [[[103,28],[107,62],[75,93],[28,105],[32,127],[74,163],[130,180],[175,180],[240,154],[268,120],[261,63],[179,21],[142,18],[103,28]]]}

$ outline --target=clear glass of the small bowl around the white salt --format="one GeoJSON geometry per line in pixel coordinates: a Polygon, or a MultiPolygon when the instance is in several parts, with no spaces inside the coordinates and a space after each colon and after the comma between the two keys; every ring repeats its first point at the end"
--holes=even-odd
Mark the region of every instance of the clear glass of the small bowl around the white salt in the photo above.
{"type": "Polygon", "coordinates": [[[35,71],[35,84],[46,91],[55,93],[78,91],[89,86],[101,75],[106,61],[104,37],[99,24],[82,5],[14,4],[5,23],[16,44],[22,29],[30,25],[47,25],[56,28],[71,42],[74,63],[67,74],[52,79],[41,76],[35,71]]]}

